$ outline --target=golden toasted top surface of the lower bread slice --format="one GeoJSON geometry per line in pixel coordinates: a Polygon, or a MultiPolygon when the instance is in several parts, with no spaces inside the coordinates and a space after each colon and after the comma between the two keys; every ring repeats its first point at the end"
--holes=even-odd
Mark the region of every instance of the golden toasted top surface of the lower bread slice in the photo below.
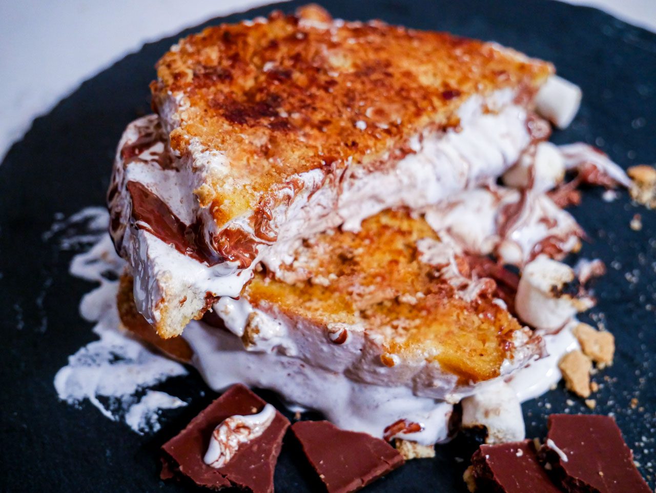
{"type": "Polygon", "coordinates": [[[385,211],[358,233],[327,232],[297,249],[292,267],[278,274],[293,284],[259,272],[243,296],[255,307],[273,305],[318,326],[363,324],[384,336],[381,360],[388,366],[395,356],[419,357],[462,381],[496,377],[520,324],[493,303],[491,280],[466,301],[438,268],[420,261],[422,238],[439,241],[423,219],[385,211]]]}

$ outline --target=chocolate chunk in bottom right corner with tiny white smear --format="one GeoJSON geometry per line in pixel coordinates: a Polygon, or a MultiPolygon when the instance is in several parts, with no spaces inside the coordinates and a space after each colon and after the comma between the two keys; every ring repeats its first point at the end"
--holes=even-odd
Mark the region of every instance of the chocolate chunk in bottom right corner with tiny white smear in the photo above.
{"type": "Polygon", "coordinates": [[[540,456],[569,493],[650,493],[615,419],[552,414],[540,456]],[[565,458],[567,460],[565,460],[565,458]]]}

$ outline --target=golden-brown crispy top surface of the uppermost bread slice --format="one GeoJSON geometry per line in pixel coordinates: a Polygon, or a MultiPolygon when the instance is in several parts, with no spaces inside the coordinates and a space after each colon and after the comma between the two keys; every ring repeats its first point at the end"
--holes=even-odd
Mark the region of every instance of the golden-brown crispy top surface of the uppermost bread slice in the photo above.
{"type": "Polygon", "coordinates": [[[427,127],[457,126],[469,96],[531,95],[551,72],[491,43],[308,7],[180,40],[151,87],[175,151],[195,142],[226,158],[196,190],[222,225],[296,173],[384,165],[427,127]]]}

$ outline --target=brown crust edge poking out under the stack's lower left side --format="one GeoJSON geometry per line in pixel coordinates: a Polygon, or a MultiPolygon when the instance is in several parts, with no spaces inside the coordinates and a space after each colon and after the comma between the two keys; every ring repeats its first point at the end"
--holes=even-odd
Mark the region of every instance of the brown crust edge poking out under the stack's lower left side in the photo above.
{"type": "Polygon", "coordinates": [[[155,346],[167,356],[183,363],[189,363],[194,356],[194,351],[187,341],[182,337],[162,339],[157,335],[154,328],[140,314],[134,305],[133,278],[129,274],[123,274],[119,283],[119,291],[116,296],[116,304],[121,318],[121,324],[129,332],[136,335],[142,341],[155,346]]]}

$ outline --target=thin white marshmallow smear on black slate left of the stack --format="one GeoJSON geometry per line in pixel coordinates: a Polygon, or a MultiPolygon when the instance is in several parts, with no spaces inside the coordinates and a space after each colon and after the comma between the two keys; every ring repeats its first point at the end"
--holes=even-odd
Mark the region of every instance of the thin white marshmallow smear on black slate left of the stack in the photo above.
{"type": "Polygon", "coordinates": [[[89,400],[112,421],[123,421],[137,433],[159,429],[159,410],[186,406],[186,402],[160,391],[148,390],[169,377],[186,375],[181,364],[152,353],[139,341],[119,330],[116,309],[117,277],[125,262],[120,259],[107,231],[108,213],[101,207],[89,207],[56,224],[44,235],[49,239],[67,229],[85,231],[60,240],[62,247],[93,242],[85,253],[75,255],[70,273],[99,286],[85,295],[80,314],[96,322],[93,332],[100,337],[69,356],[68,364],[54,377],[60,399],[79,405],[89,400]],[[144,393],[144,390],[146,391],[144,393]]]}

